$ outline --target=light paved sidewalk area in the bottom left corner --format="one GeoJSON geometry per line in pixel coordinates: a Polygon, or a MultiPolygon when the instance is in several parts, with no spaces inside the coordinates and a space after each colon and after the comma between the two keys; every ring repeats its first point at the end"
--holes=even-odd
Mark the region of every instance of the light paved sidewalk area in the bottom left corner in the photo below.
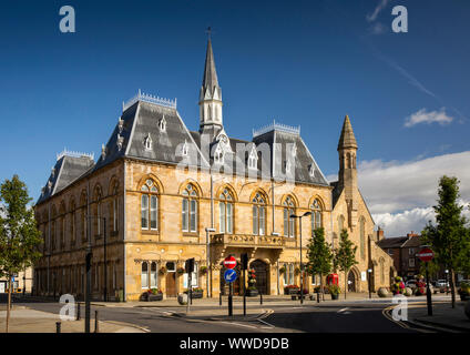
{"type": "MultiPolygon", "coordinates": [[[[6,332],[7,311],[0,311],[0,333],[6,332]]],[[[61,333],[83,333],[84,321],[62,321],[59,314],[14,306],[10,312],[9,333],[57,333],[57,322],[61,333]]],[[[99,321],[98,333],[146,333],[143,328],[122,322],[99,321]]],[[[91,332],[95,332],[92,318],[91,332]]]]}

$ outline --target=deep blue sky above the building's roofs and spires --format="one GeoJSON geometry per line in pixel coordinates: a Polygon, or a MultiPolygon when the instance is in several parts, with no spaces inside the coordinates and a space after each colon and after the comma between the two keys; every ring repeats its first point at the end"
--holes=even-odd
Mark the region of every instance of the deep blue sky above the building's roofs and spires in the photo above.
{"type": "MultiPolygon", "coordinates": [[[[177,98],[196,130],[208,26],[231,136],[251,139],[273,119],[299,124],[333,176],[349,114],[364,174],[371,166],[406,174],[409,164],[470,151],[469,18],[461,0],[2,1],[0,179],[18,173],[35,200],[55,154],[67,146],[98,156],[122,101],[139,89],[177,98]],[[75,33],[59,31],[67,4],[76,12],[75,33]],[[398,4],[408,9],[407,33],[391,31],[398,4]]],[[[456,164],[469,165],[461,159],[456,164]]],[[[462,180],[467,170],[456,174],[462,180]]],[[[374,201],[377,191],[361,189],[374,201]]],[[[428,190],[413,205],[372,204],[372,213],[427,209],[428,190]]]]}

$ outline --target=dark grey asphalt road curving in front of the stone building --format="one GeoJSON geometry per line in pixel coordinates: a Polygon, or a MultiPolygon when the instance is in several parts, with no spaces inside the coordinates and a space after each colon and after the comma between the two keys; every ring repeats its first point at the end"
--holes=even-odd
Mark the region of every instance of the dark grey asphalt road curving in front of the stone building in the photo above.
{"type": "MultiPolygon", "coordinates": [[[[410,303],[422,300],[409,298],[410,303]]],[[[0,296],[0,302],[4,303],[0,296]]],[[[58,302],[31,302],[18,297],[14,302],[33,310],[59,313],[58,302]]],[[[390,306],[389,300],[356,300],[315,303],[306,302],[303,306],[276,305],[275,302],[265,305],[272,313],[260,321],[207,321],[207,316],[195,316],[191,320],[174,316],[172,313],[183,313],[181,307],[103,307],[92,306],[99,311],[101,321],[119,321],[139,325],[152,333],[415,333],[416,329],[402,327],[384,316],[382,311],[390,306]]],[[[251,306],[252,307],[252,306],[251,306]]],[[[253,305],[253,307],[256,307],[253,305]]],[[[198,307],[211,310],[211,307],[198,307]]],[[[217,307],[217,310],[219,310],[217,307]]],[[[234,314],[241,314],[239,307],[234,314]]],[[[81,308],[84,316],[84,307],[81,308]]],[[[93,325],[92,325],[93,327],[93,325]]]]}

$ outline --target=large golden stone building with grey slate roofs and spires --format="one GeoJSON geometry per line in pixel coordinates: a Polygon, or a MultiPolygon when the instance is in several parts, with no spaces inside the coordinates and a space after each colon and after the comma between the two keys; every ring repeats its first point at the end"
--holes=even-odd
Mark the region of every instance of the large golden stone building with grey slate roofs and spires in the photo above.
{"type": "MultiPolygon", "coordinates": [[[[300,232],[305,263],[319,226],[333,245],[341,229],[358,245],[359,263],[346,275],[350,291],[368,290],[368,268],[374,287],[389,285],[392,261],[377,245],[357,186],[358,145],[348,116],[338,143],[339,179],[330,184],[299,128],[275,122],[254,131],[252,141],[228,136],[211,40],[198,104],[200,130],[190,131],[176,100],[139,92],[123,104],[96,162],[86,154],[58,155],[35,205],[44,237],[37,293],[82,296],[90,242],[94,298],[103,297],[105,275],[111,300],[137,300],[153,287],[176,296],[188,286],[183,267],[190,257],[196,261],[193,287],[218,296],[226,292],[222,261],[242,253],[249,255],[257,288],[283,294],[286,285],[299,285],[300,232]],[[311,216],[300,231],[290,215],[306,212],[311,216]]],[[[311,291],[318,277],[304,281],[311,291]]],[[[239,290],[238,277],[234,292],[239,290]]]]}

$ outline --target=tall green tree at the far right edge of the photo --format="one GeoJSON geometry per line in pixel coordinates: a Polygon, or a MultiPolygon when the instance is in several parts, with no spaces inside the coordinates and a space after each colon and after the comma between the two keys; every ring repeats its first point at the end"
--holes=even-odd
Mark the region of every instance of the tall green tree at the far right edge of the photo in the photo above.
{"type": "Polygon", "coordinates": [[[462,216],[463,207],[457,202],[459,199],[457,178],[443,175],[439,180],[438,194],[438,205],[433,206],[437,224],[433,225],[429,221],[421,232],[421,237],[433,250],[436,262],[449,270],[452,308],[454,308],[456,271],[466,263],[463,257],[469,253],[467,221],[462,216]]]}

